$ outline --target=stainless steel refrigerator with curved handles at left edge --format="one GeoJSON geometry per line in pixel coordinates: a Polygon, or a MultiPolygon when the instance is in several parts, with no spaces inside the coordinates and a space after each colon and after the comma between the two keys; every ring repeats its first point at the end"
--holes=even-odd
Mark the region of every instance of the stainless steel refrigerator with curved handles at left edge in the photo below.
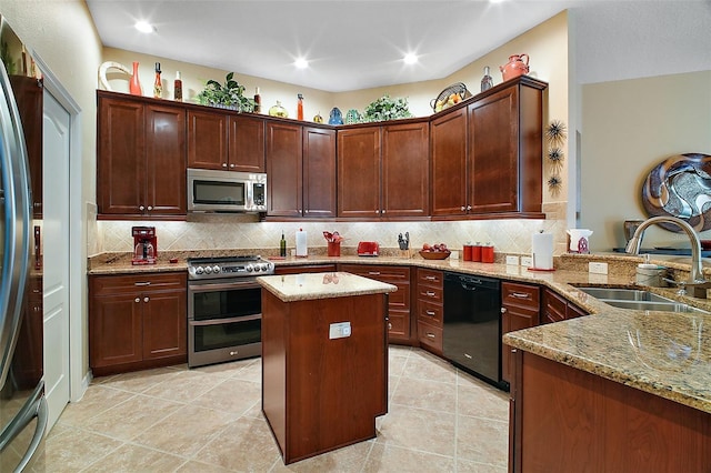
{"type": "MultiPolygon", "coordinates": [[[[4,54],[4,39],[0,47],[4,54]]],[[[38,471],[43,463],[48,407],[42,318],[41,313],[39,322],[38,316],[31,318],[24,304],[31,271],[32,201],[22,124],[2,63],[0,87],[0,472],[38,471]]]]}

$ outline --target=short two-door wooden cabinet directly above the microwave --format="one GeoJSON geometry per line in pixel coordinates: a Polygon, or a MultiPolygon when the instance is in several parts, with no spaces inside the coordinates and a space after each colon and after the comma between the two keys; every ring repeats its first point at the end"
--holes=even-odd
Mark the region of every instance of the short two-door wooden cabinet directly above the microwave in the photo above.
{"type": "Polygon", "coordinates": [[[221,109],[190,108],[188,167],[264,172],[264,120],[221,109]]]}

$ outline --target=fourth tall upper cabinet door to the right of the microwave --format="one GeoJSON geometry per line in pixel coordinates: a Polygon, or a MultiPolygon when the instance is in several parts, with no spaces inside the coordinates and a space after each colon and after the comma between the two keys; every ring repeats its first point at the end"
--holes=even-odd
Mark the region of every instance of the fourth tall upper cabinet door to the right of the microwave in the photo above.
{"type": "Polygon", "coordinates": [[[429,124],[382,130],[382,217],[428,217],[430,212],[429,124]]]}

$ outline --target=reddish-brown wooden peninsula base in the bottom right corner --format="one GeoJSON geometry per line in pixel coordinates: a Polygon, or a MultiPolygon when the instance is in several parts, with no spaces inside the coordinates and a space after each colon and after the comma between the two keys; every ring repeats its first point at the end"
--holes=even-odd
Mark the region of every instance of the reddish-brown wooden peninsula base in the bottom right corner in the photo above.
{"type": "Polygon", "coordinates": [[[510,472],[709,472],[711,414],[517,350],[510,472]]]}

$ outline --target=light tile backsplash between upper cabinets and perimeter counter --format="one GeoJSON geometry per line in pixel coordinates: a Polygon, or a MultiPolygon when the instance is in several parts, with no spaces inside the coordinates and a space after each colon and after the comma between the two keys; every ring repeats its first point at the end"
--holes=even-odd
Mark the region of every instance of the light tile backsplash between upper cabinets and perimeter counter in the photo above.
{"type": "MultiPolygon", "coordinates": [[[[422,243],[447,243],[460,250],[468,242],[492,243],[497,253],[528,254],[531,235],[541,230],[552,233],[554,253],[565,252],[563,220],[470,220],[448,222],[260,222],[251,214],[192,214],[183,222],[110,221],[96,222],[96,235],[89,239],[89,255],[131,251],[131,227],[156,227],[158,250],[277,249],[281,232],[287,246],[293,248],[296,232],[307,232],[309,248],[326,246],[323,231],[338,231],[343,246],[359,241],[377,241],[382,248],[398,248],[398,234],[410,233],[410,248],[422,243]]],[[[92,225],[93,227],[93,225],[92,225]]],[[[93,229],[92,229],[93,230],[93,229]]]]}

